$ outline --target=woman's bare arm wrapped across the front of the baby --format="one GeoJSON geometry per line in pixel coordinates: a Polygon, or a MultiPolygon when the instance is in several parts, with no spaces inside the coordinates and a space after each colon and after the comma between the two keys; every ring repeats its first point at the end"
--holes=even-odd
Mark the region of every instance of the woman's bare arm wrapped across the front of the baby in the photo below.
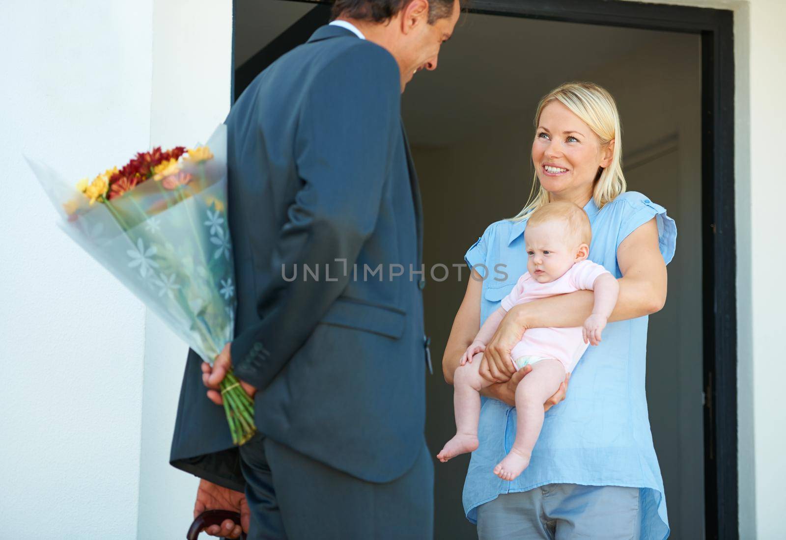
{"type": "MultiPolygon", "coordinates": [[[[654,217],[619,244],[617,264],[623,277],[617,280],[619,296],[609,322],[635,319],[663,308],[667,272],[658,246],[658,225],[654,217]]],[[[510,351],[527,328],[580,327],[592,313],[593,304],[593,291],[576,290],[513,306],[488,342],[484,354],[500,362],[509,359],[510,351]]],[[[494,370],[491,375],[502,377],[494,370]]]]}

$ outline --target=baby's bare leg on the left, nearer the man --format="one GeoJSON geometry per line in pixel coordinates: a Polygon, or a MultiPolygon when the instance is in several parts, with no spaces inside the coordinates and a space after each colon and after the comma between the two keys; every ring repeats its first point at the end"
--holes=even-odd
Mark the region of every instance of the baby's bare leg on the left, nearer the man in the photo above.
{"type": "Polygon", "coordinates": [[[480,389],[492,385],[480,376],[480,357],[472,363],[459,366],[453,376],[453,405],[456,414],[456,435],[445,443],[437,454],[446,462],[458,454],[475,451],[478,447],[478,421],[480,419],[480,389]]]}

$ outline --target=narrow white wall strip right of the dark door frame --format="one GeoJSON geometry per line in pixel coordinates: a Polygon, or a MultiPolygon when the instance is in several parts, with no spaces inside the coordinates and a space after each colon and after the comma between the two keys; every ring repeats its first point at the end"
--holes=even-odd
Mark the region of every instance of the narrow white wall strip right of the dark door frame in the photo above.
{"type": "Polygon", "coordinates": [[[772,249],[772,239],[777,239],[780,232],[781,205],[786,200],[783,171],[773,165],[780,155],[777,140],[786,123],[782,92],[786,70],[779,53],[786,46],[786,3],[753,0],[749,9],[738,10],[737,14],[740,531],[744,538],[753,538],[754,534],[762,539],[782,538],[786,408],[779,398],[782,381],[786,380],[786,353],[780,341],[786,294],[782,288],[773,290],[771,284],[778,283],[786,265],[786,253],[772,249]],[[755,510],[746,497],[755,498],[755,510]]]}

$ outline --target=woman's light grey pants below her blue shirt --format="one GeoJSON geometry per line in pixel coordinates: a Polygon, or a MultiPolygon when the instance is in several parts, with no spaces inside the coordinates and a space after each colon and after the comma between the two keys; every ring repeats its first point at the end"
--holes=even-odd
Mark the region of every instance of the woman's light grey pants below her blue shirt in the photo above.
{"type": "Polygon", "coordinates": [[[479,540],[637,539],[639,488],[549,483],[478,507],[479,540]]]}

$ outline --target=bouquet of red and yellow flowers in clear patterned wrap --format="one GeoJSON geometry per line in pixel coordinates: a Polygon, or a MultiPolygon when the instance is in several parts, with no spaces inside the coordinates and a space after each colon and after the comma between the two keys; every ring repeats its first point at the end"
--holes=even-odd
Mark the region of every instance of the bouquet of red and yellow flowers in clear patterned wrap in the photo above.
{"type": "MultiPolygon", "coordinates": [[[[58,225],[208,363],[233,339],[232,243],[226,218],[226,126],[208,144],[141,152],[69,186],[28,159],[58,225]]],[[[221,384],[235,444],[255,432],[254,403],[232,372],[221,384]]]]}

